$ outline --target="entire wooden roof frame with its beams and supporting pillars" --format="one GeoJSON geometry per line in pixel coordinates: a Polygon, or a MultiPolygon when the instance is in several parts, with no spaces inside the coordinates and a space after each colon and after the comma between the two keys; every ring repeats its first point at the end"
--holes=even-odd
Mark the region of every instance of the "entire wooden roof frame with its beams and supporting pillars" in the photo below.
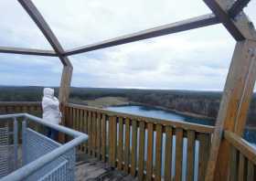
{"type": "Polygon", "coordinates": [[[229,130],[239,135],[243,132],[256,79],[256,31],[251,21],[242,12],[242,9],[250,0],[203,1],[208,5],[213,14],[197,16],[123,37],[115,37],[84,47],[65,50],[32,1],[18,0],[20,5],[27,11],[27,14],[37,24],[43,35],[48,39],[54,51],[0,47],[0,53],[58,57],[63,64],[59,100],[62,103],[67,103],[73,69],[68,58],[69,56],[221,23],[237,41],[237,45],[220,102],[205,180],[227,180],[229,176],[228,155],[230,154],[230,148],[227,141],[222,139],[223,130],[229,130]]]}

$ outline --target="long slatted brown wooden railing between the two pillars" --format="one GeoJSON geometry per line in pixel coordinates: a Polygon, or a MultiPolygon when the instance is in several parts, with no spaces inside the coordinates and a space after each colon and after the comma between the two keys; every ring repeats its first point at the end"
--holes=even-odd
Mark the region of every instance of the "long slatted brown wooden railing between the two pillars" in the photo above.
{"type": "Polygon", "coordinates": [[[76,104],[67,105],[64,115],[67,126],[89,134],[88,143],[81,145],[80,151],[139,180],[204,180],[212,126],[76,104]]]}

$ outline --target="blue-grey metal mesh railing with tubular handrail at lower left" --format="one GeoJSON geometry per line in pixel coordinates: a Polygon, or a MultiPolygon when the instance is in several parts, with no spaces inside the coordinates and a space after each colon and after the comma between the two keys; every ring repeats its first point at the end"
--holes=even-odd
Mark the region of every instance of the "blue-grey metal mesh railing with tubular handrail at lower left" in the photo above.
{"type": "Polygon", "coordinates": [[[27,113],[0,115],[1,121],[6,119],[9,123],[0,127],[1,181],[75,180],[75,147],[88,139],[86,134],[44,122],[42,119],[27,113]],[[17,118],[20,117],[24,118],[22,129],[18,129],[17,126],[17,118]],[[38,133],[27,127],[28,120],[69,134],[74,139],[66,144],[59,144],[43,133],[38,133]],[[12,122],[10,123],[10,121],[12,122]],[[8,125],[13,125],[13,129],[10,130],[8,125]],[[19,130],[22,131],[21,134],[18,133],[19,130]],[[21,135],[22,139],[18,139],[18,135],[21,135]],[[18,140],[22,140],[22,149],[19,149],[18,140]],[[18,165],[20,157],[22,158],[21,167],[18,165]]]}

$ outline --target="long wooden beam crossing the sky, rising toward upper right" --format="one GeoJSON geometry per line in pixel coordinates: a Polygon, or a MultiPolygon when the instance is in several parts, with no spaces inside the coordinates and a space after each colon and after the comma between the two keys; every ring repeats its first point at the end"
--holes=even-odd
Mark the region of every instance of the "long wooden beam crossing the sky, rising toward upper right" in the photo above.
{"type": "Polygon", "coordinates": [[[151,37],[160,37],[172,33],[177,33],[181,31],[186,31],[189,29],[194,29],[198,27],[207,27],[219,23],[219,19],[216,18],[213,14],[208,14],[204,16],[197,16],[189,18],[187,20],[178,21],[176,23],[168,24],[161,27],[154,27],[151,29],[146,29],[144,31],[139,31],[130,35],[123,37],[115,37],[109,40],[101,41],[92,45],[70,49],[64,53],[66,56],[84,53],[101,48],[110,48],[117,45],[122,45],[126,43],[131,43],[133,41],[139,41],[151,37]]]}

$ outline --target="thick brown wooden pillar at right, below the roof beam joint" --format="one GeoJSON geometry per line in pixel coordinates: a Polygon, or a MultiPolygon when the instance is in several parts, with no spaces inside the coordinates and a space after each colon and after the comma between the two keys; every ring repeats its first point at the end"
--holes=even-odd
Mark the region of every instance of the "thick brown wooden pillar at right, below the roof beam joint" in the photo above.
{"type": "Polygon", "coordinates": [[[226,80],[208,160],[207,181],[226,181],[230,148],[223,130],[243,132],[256,78],[256,41],[237,43],[226,80]],[[254,52],[254,55],[253,55],[254,52]]]}

